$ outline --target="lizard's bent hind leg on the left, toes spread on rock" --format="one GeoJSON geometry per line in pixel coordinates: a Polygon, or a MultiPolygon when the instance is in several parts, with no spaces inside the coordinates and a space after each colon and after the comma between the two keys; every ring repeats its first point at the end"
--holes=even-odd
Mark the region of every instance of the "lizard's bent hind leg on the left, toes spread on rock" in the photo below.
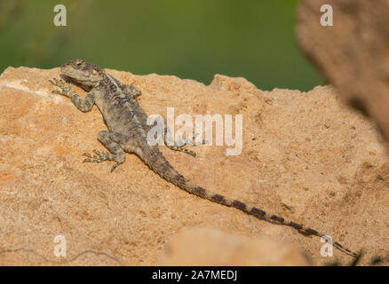
{"type": "Polygon", "coordinates": [[[116,169],[118,165],[125,161],[125,153],[122,146],[118,143],[121,140],[121,135],[112,131],[102,130],[99,131],[98,140],[105,146],[109,152],[100,152],[98,150],[93,150],[93,153],[96,155],[84,153],[83,155],[88,157],[84,159],[83,162],[104,162],[104,161],[114,161],[115,164],[111,168],[111,172],[116,169]]]}

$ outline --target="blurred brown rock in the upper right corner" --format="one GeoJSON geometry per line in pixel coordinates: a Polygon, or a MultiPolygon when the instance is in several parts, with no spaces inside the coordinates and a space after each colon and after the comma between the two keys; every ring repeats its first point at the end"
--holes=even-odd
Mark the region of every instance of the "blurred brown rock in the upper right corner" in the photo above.
{"type": "Polygon", "coordinates": [[[345,102],[377,122],[386,141],[389,140],[388,15],[388,0],[306,0],[298,9],[299,45],[345,102]],[[332,27],[320,24],[322,4],[332,6],[332,27]]]}

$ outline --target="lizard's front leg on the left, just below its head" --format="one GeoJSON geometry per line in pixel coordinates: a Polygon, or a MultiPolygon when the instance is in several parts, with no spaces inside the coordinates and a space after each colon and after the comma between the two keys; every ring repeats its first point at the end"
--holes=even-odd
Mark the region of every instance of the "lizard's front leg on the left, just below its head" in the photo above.
{"type": "Polygon", "coordinates": [[[89,112],[94,105],[95,94],[94,91],[89,92],[85,99],[82,99],[73,89],[69,83],[65,83],[63,80],[53,78],[49,80],[54,86],[60,87],[61,91],[54,90],[52,93],[60,94],[67,98],[72,99],[73,104],[82,112],[89,112]]]}

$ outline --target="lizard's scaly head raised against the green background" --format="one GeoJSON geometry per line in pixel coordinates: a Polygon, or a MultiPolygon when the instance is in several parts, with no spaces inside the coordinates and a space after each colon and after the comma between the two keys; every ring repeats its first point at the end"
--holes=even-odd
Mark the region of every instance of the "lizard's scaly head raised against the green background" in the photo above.
{"type": "Polygon", "coordinates": [[[74,59],[60,67],[60,72],[82,87],[92,88],[105,78],[104,70],[97,65],[74,59]]]}

